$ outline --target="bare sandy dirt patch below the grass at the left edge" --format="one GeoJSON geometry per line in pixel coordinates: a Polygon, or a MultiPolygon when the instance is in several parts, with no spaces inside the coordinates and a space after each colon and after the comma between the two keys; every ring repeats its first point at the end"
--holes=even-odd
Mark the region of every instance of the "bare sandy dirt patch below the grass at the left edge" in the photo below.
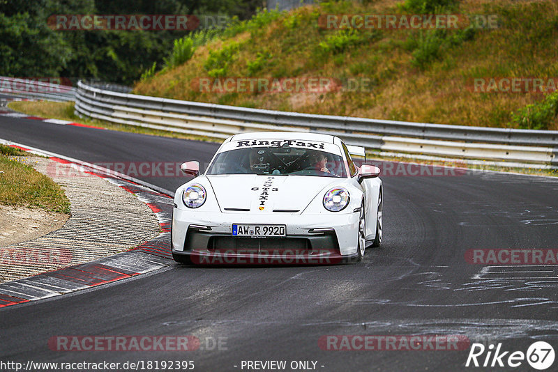
{"type": "Polygon", "coordinates": [[[69,217],[42,209],[0,206],[0,247],[27,242],[58,230],[69,217]]]}

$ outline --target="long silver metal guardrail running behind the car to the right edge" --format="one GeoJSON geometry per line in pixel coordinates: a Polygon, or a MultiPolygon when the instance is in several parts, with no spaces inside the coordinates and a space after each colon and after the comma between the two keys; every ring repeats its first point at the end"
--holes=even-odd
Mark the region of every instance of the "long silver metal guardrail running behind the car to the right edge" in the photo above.
{"type": "MultiPolygon", "coordinates": [[[[558,131],[384,121],[188,102],[107,91],[78,82],[75,113],[112,123],[223,139],[240,132],[334,134],[380,155],[428,155],[558,168],[558,131]]],[[[474,161],[472,161],[474,162],[474,161]]]]}

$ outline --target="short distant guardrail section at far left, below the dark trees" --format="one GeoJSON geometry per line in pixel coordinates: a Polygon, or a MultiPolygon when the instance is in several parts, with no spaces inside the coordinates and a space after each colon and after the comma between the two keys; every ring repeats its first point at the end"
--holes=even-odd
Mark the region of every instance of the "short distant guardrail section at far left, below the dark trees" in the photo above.
{"type": "Polygon", "coordinates": [[[0,94],[15,98],[31,98],[66,102],[75,100],[76,88],[63,84],[41,82],[40,79],[20,79],[17,77],[0,77],[0,94]]]}

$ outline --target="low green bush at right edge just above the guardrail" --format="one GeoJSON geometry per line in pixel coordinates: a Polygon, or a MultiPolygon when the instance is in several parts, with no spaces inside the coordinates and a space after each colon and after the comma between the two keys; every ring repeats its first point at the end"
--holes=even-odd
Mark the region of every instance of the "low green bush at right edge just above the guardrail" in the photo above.
{"type": "Polygon", "coordinates": [[[550,123],[558,116],[558,92],[545,97],[543,102],[527,104],[511,114],[512,121],[521,129],[548,130],[550,123]]]}

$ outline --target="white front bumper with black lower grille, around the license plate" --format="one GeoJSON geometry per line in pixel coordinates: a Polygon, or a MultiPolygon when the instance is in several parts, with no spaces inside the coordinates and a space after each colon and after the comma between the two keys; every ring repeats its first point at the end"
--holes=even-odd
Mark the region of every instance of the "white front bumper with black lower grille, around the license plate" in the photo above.
{"type": "Polygon", "coordinates": [[[247,215],[174,208],[172,254],[211,264],[334,264],[358,258],[359,212],[247,215]],[[193,218],[197,217],[197,218],[193,218]],[[285,224],[285,238],[239,238],[232,224],[285,224]],[[314,231],[315,229],[321,229],[314,231]],[[326,231],[324,231],[326,229],[326,231]]]}

